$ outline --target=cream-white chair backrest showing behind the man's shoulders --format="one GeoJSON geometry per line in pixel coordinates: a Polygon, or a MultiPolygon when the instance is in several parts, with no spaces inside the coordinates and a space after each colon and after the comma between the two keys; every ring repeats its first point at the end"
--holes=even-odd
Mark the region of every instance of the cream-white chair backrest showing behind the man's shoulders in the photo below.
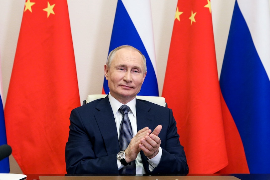
{"type": "MultiPolygon", "coordinates": [[[[101,98],[105,98],[107,95],[105,94],[92,94],[92,95],[88,95],[86,97],[86,100],[83,101],[82,105],[85,105],[86,103],[89,103],[93,100],[96,99],[101,99],[101,98]]],[[[161,105],[164,107],[167,107],[167,103],[165,101],[164,97],[159,97],[159,96],[144,96],[144,95],[137,95],[136,96],[137,99],[141,99],[141,100],[147,100],[149,102],[155,103],[157,105],[161,105]]]]}

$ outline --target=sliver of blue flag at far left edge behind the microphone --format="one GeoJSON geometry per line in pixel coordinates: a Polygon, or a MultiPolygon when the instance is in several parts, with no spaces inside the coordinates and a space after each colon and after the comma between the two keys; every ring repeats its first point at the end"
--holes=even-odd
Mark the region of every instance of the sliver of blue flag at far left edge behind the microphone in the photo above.
{"type": "MultiPolygon", "coordinates": [[[[4,118],[4,109],[3,109],[3,101],[2,101],[2,73],[0,66],[0,146],[3,144],[7,144],[7,135],[6,135],[6,126],[5,126],[5,118],[4,118]]],[[[5,159],[0,161],[0,173],[9,173],[9,159],[6,157],[5,159]]]]}

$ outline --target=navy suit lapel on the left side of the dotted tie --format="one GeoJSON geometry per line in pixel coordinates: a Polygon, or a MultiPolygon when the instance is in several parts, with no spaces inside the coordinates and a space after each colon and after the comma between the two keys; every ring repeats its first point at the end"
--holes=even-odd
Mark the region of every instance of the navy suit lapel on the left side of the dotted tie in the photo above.
{"type": "Polygon", "coordinates": [[[96,105],[96,109],[99,111],[95,113],[95,118],[107,153],[112,154],[119,152],[117,129],[108,96],[96,105]]]}

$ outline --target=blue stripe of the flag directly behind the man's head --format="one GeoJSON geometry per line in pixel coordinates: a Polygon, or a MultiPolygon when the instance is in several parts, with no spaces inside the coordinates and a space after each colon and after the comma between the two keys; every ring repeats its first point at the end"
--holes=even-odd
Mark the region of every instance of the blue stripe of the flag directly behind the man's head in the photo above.
{"type": "MultiPolygon", "coordinates": [[[[122,1],[118,0],[109,52],[121,45],[131,45],[139,49],[146,58],[147,75],[138,95],[158,96],[158,82],[151,60],[126,8],[122,1]]],[[[108,94],[109,87],[105,78],[103,88],[108,94]]]]}

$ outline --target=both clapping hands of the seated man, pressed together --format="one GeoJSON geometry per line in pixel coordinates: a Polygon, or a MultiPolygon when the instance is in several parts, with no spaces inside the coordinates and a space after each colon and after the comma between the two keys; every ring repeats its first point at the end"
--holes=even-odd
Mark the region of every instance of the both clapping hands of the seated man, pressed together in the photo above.
{"type": "Polygon", "coordinates": [[[138,131],[138,133],[131,139],[127,149],[125,150],[126,162],[129,163],[135,160],[141,150],[149,159],[155,157],[158,154],[161,144],[161,140],[158,137],[161,129],[162,126],[158,125],[153,132],[148,127],[144,127],[138,131]]]}

